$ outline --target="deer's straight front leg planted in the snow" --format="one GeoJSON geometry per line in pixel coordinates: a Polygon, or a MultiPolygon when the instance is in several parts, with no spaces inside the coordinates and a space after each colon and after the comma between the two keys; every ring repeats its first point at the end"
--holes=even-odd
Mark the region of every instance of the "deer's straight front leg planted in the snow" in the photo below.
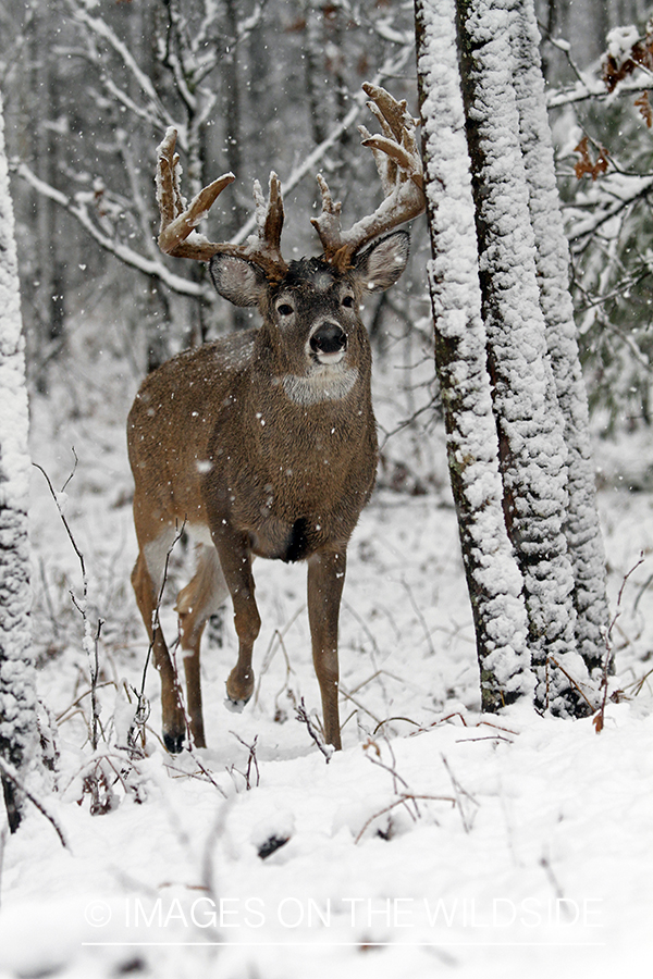
{"type": "Polygon", "coordinates": [[[345,583],[346,554],[313,554],[308,559],[308,621],[313,664],[324,718],[324,736],[336,751],[342,748],[337,708],[337,621],[345,583]]]}

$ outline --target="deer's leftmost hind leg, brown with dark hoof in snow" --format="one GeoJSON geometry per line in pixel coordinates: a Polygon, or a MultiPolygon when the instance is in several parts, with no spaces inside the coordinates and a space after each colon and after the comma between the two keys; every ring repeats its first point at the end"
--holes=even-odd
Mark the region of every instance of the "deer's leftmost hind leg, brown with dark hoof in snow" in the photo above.
{"type": "Polygon", "coordinates": [[[186,717],[180,698],[176,672],[161,631],[158,604],[165,574],[165,560],[174,537],[174,528],[163,526],[157,537],[140,544],[132,571],[136,604],[149,635],[155,667],[161,680],[163,743],[172,754],[181,752],[184,746],[186,717]]]}

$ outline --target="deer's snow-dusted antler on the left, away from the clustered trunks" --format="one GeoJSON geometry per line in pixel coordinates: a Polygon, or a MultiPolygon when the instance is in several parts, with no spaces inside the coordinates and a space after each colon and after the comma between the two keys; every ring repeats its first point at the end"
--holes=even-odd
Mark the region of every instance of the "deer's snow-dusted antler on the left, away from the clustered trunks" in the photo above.
{"type": "Polygon", "coordinates": [[[229,241],[209,241],[195,228],[205,218],[218,196],[235,176],[225,173],[205,187],[186,203],[180,184],[181,166],[175,153],[176,129],[170,127],[157,149],[157,202],[161,214],[159,248],[176,258],[208,262],[214,255],[233,255],[246,258],[259,265],[270,281],[283,278],[287,264],[281,255],[283,227],[283,200],[281,184],[275,173],[270,174],[270,189],[266,201],[258,181],[254,185],[257,233],[244,245],[229,241]]]}

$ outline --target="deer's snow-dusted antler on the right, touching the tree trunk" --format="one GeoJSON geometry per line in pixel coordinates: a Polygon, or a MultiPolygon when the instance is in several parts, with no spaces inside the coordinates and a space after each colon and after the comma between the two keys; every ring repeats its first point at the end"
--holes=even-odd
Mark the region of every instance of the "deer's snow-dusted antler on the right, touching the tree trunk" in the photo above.
{"type": "Polygon", "coordinates": [[[384,200],[373,214],[356,222],[348,232],[340,223],[340,203],[334,203],[323,177],[318,176],[322,191],[322,213],[313,218],[324,256],[340,269],[352,263],[355,252],[377,238],[412,218],[426,207],[421,159],[415,138],[417,120],[408,113],[406,102],[398,102],[383,88],[366,83],[364,89],[372,113],[379,120],[383,135],[372,136],[360,127],[362,145],[374,154],[377,170],[383,186],[384,200]]]}

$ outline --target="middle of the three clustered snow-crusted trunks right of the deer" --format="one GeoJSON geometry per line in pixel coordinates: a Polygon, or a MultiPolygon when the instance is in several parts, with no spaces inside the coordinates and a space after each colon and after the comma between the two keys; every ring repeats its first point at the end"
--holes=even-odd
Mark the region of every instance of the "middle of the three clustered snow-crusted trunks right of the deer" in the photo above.
{"type": "Polygon", "coordinates": [[[504,509],[525,582],[537,703],[577,712],[574,575],[564,523],[567,449],[540,308],[535,240],[513,84],[517,0],[458,0],[482,311],[504,509]],[[560,669],[562,667],[562,669],[560,669]]]}

